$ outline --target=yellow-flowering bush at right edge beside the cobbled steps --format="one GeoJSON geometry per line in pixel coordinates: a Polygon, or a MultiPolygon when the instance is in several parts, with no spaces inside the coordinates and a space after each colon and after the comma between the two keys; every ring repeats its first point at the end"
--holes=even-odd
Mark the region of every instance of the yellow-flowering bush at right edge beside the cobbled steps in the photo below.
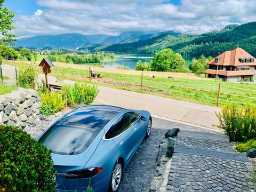
{"type": "Polygon", "coordinates": [[[217,127],[225,131],[230,141],[246,142],[256,137],[256,105],[247,103],[241,108],[226,105],[222,114],[216,115],[220,122],[217,127]]]}

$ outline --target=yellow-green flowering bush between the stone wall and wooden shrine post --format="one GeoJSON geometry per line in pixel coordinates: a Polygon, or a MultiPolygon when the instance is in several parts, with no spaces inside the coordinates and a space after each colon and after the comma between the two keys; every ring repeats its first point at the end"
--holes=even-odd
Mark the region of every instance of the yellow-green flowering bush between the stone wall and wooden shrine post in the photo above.
{"type": "Polygon", "coordinates": [[[42,97],[42,106],[39,108],[39,111],[43,115],[54,115],[63,109],[67,103],[63,92],[45,92],[40,95],[42,97]]]}

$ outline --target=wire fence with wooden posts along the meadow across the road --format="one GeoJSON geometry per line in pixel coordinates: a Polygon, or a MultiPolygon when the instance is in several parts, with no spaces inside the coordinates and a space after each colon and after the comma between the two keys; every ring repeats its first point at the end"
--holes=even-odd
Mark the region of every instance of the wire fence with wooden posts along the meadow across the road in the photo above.
{"type": "MultiPolygon", "coordinates": [[[[227,82],[207,82],[191,81],[187,79],[154,78],[149,81],[146,77],[140,82],[140,78],[119,76],[119,82],[132,82],[140,84],[142,87],[149,87],[152,90],[161,90],[171,93],[174,97],[186,97],[197,100],[199,103],[210,103],[211,105],[230,105],[236,103],[246,105],[247,102],[256,103],[255,83],[227,83],[227,82]],[[123,78],[123,79],[122,79],[123,78]]],[[[115,78],[111,76],[111,78],[115,78]]],[[[189,100],[189,99],[188,99],[189,100]]]]}

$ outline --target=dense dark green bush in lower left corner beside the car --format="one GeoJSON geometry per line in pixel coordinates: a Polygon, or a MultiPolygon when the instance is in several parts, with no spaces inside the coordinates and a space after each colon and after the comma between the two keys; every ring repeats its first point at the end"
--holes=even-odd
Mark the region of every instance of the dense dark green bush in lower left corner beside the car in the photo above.
{"type": "Polygon", "coordinates": [[[51,151],[12,126],[0,126],[0,191],[55,191],[51,151]]]}

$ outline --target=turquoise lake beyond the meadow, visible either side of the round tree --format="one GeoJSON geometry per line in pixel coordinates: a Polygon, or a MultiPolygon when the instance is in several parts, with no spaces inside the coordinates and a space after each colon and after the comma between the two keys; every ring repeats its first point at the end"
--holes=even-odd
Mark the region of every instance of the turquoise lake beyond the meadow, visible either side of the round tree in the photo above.
{"type": "MultiPolygon", "coordinates": [[[[114,68],[117,69],[118,66],[124,65],[129,67],[129,69],[134,70],[136,64],[139,60],[141,62],[150,62],[151,59],[154,58],[154,55],[115,55],[115,60],[113,61],[105,61],[103,66],[106,68],[114,68]]],[[[190,65],[191,59],[185,59],[185,67],[188,68],[190,65]]]]}

